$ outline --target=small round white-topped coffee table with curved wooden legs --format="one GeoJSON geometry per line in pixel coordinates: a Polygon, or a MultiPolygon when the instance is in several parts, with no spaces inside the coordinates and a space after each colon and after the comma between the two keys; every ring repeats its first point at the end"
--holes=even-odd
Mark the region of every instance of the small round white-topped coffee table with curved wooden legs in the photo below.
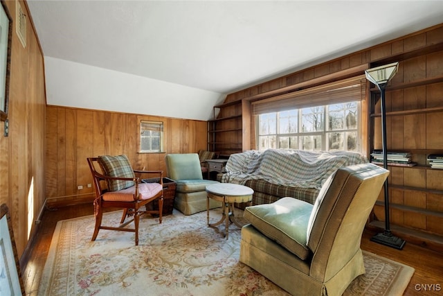
{"type": "Polygon", "coordinates": [[[207,200],[206,200],[206,213],[208,218],[208,226],[216,227],[225,221],[225,233],[224,236],[228,238],[229,221],[242,228],[243,225],[239,224],[234,214],[234,203],[251,202],[253,189],[248,186],[230,183],[217,183],[206,186],[207,200]],[[223,215],[217,223],[209,223],[209,199],[217,200],[221,202],[223,207],[223,215]]]}

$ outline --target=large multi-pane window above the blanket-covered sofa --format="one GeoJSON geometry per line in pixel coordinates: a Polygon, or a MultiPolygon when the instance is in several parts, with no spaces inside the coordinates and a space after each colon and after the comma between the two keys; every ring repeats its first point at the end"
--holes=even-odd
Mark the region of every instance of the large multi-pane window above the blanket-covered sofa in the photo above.
{"type": "Polygon", "coordinates": [[[360,101],[258,115],[258,149],[361,151],[360,101]]]}

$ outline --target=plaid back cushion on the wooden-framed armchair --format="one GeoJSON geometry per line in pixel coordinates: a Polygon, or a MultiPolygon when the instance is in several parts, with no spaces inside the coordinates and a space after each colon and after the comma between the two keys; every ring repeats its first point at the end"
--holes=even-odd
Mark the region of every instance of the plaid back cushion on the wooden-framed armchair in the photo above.
{"type": "MultiPolygon", "coordinates": [[[[136,177],[126,155],[102,155],[98,157],[98,164],[108,177],[136,177]]],[[[134,186],[134,181],[107,180],[107,185],[109,191],[119,191],[134,186]]]]}

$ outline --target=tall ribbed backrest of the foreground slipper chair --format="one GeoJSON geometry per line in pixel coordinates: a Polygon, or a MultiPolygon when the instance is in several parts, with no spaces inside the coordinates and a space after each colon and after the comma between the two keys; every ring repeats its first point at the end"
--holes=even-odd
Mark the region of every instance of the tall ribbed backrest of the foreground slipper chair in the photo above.
{"type": "Polygon", "coordinates": [[[359,251],[365,223],[388,174],[374,164],[336,171],[307,243],[313,252],[311,277],[330,279],[359,251]]]}

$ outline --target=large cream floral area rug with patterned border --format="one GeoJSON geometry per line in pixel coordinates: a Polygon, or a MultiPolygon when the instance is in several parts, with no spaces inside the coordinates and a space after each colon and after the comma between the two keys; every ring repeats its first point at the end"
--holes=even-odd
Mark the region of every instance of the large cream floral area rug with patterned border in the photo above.
{"type": "MultiPolygon", "coordinates": [[[[116,225],[121,214],[103,222],[116,225]]],[[[210,222],[220,216],[211,210],[210,222]]],[[[93,228],[93,216],[57,223],[38,295],[289,295],[239,262],[240,229],[231,225],[226,240],[206,225],[206,211],[174,210],[162,224],[143,216],[138,246],[134,233],[104,229],[91,241],[93,228]]],[[[345,295],[401,295],[414,272],[368,252],[364,261],[366,274],[345,295]]]]}

